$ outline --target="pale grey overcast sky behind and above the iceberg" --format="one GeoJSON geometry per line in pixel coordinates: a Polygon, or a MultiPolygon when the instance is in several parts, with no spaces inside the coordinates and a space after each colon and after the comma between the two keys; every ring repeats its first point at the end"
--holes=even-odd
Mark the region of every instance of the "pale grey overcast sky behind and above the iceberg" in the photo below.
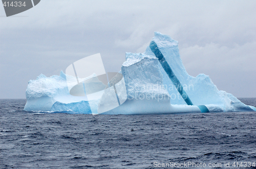
{"type": "Polygon", "coordinates": [[[179,42],[188,74],[219,90],[256,97],[256,1],[41,0],[6,17],[0,5],[0,99],[26,98],[30,79],[50,77],[100,53],[118,72],[125,52],[144,52],[154,32],[179,42]]]}

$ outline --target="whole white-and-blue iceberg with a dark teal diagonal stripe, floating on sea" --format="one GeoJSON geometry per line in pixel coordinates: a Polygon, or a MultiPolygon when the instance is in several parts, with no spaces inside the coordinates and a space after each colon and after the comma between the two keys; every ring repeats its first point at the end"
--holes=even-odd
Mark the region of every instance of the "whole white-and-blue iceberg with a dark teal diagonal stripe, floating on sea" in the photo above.
{"type": "Polygon", "coordinates": [[[144,53],[126,52],[125,57],[121,71],[111,78],[104,68],[80,73],[78,66],[88,59],[97,58],[103,67],[99,54],[71,64],[66,74],[39,75],[29,81],[24,110],[109,115],[256,111],[219,91],[209,76],[188,75],[178,41],[167,35],[155,32],[144,53]]]}

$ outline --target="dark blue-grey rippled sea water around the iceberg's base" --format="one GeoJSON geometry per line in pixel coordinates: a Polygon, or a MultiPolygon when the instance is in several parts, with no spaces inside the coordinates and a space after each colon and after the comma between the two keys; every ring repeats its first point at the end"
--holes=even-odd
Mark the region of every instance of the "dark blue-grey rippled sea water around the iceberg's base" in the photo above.
{"type": "Polygon", "coordinates": [[[92,116],[25,103],[0,100],[0,168],[256,168],[255,112],[92,116]]]}

